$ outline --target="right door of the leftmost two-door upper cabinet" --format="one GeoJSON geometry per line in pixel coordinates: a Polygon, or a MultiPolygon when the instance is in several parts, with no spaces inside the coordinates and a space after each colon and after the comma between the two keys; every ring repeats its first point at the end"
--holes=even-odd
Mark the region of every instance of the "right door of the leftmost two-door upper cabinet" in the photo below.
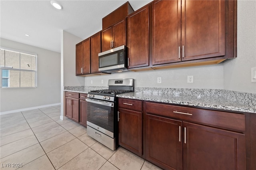
{"type": "Polygon", "coordinates": [[[83,74],[89,74],[91,72],[90,61],[90,38],[87,38],[83,41],[83,74]]]}

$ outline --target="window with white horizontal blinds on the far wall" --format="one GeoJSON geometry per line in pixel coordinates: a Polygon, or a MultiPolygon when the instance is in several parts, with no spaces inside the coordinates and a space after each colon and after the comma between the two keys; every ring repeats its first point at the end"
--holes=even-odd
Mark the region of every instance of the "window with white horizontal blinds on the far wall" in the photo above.
{"type": "Polygon", "coordinates": [[[1,87],[37,87],[37,55],[0,49],[1,87]]]}

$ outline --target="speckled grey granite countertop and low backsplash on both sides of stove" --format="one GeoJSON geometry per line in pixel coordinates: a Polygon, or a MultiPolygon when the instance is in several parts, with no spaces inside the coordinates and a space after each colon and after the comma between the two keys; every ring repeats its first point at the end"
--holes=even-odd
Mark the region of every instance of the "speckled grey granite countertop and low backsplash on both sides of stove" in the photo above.
{"type": "MultiPolygon", "coordinates": [[[[88,93],[91,90],[108,89],[102,86],[64,87],[64,91],[88,93]]],[[[256,113],[256,94],[222,89],[175,89],[135,87],[134,92],[116,95],[127,99],[156,101],[205,109],[256,113]]]]}

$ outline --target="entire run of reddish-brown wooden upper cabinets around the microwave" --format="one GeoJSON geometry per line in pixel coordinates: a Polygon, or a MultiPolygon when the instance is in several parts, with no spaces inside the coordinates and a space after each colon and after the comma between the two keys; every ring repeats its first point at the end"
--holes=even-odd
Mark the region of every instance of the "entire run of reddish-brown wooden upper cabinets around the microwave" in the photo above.
{"type": "Polygon", "coordinates": [[[121,45],[131,70],[217,64],[237,55],[237,0],[154,0],[132,11],[126,2],[102,19],[101,32],[76,45],[76,75],[100,73],[98,53],[121,45]]]}

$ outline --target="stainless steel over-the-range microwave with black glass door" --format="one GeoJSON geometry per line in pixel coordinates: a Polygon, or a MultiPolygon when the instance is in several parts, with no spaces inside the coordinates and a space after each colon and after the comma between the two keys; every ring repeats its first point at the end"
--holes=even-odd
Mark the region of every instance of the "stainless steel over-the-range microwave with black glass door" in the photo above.
{"type": "Polygon", "coordinates": [[[99,71],[102,73],[129,71],[127,69],[128,58],[125,45],[99,53],[98,56],[99,71]]]}

